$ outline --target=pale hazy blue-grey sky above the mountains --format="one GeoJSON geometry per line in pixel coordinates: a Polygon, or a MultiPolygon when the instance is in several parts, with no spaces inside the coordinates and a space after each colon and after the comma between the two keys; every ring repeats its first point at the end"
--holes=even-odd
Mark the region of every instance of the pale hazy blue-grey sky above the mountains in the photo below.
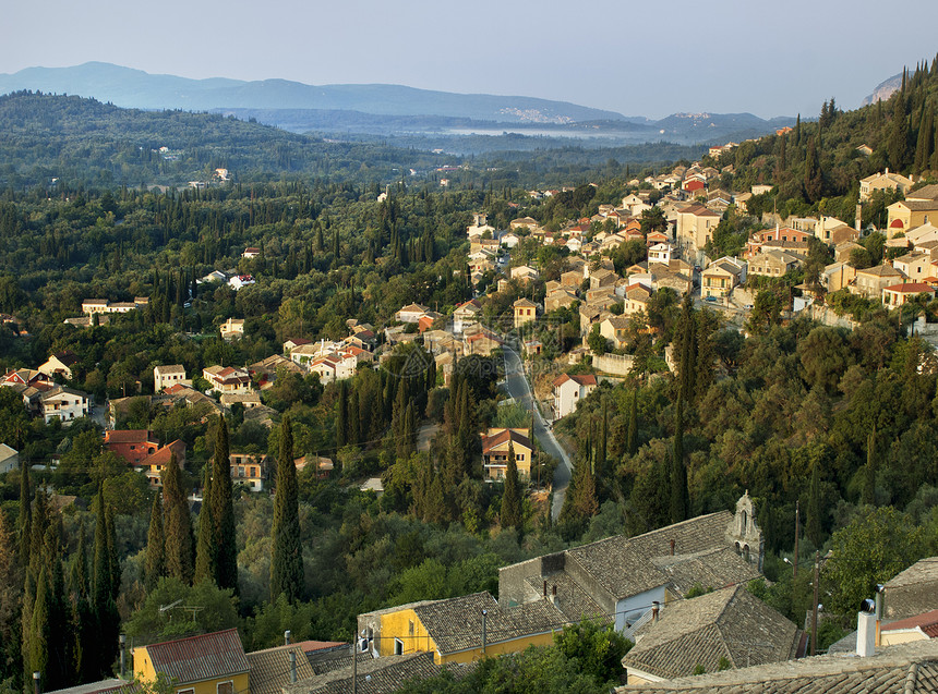
{"type": "Polygon", "coordinates": [[[660,118],[854,108],[938,52],[936,0],[8,0],[0,73],[393,83],[660,118]]]}

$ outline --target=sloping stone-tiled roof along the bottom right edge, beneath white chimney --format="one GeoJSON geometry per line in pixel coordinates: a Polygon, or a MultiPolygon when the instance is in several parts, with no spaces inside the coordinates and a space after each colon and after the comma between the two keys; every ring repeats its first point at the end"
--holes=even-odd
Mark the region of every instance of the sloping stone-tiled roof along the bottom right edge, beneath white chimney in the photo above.
{"type": "Polygon", "coordinates": [[[628,692],[664,694],[933,694],[938,692],[938,643],[890,646],[868,658],[827,655],[651,684],[628,692]]]}

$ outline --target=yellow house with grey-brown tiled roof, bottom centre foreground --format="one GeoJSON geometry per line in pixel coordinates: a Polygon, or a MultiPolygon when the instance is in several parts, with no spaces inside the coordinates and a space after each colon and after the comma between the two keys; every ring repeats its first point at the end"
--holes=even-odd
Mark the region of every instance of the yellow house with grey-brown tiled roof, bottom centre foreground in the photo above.
{"type": "Polygon", "coordinates": [[[437,665],[472,662],[553,643],[567,620],[548,599],[503,608],[489,593],[359,614],[361,650],[376,658],[433,653],[437,665]]]}

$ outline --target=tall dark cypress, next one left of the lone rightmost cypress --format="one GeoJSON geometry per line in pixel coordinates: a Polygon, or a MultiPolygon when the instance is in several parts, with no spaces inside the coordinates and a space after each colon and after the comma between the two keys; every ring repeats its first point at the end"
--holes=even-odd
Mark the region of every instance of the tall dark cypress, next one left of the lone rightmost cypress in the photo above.
{"type": "Polygon", "coordinates": [[[215,524],[215,585],[238,594],[238,544],[229,464],[228,424],[219,417],[212,464],[212,521],[215,524]]]}

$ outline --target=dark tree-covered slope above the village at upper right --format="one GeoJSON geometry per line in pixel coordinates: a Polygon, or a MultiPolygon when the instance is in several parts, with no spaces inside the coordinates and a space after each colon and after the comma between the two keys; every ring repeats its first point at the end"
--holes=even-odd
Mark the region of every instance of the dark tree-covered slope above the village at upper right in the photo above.
{"type": "MultiPolygon", "coordinates": [[[[775,190],[754,197],[747,207],[758,215],[773,205],[789,214],[821,211],[852,224],[859,179],[882,171],[931,175],[938,172],[938,57],[904,73],[901,88],[888,101],[841,111],[832,98],[815,122],[798,122],[785,135],[744,142],[721,156],[733,165],[733,186],[746,190],[770,183],[775,190]],[[867,145],[869,156],[857,149],[867,145]]],[[[864,221],[873,217],[864,211],[864,221]]]]}

